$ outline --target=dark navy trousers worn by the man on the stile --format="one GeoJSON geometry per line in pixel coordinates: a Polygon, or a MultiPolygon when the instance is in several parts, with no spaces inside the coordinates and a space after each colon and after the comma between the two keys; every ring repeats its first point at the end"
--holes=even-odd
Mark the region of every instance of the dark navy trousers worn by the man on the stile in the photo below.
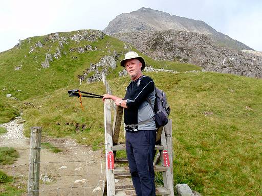
{"type": "Polygon", "coordinates": [[[155,196],[154,152],[156,130],[127,132],[126,155],[137,196],[155,196]]]}

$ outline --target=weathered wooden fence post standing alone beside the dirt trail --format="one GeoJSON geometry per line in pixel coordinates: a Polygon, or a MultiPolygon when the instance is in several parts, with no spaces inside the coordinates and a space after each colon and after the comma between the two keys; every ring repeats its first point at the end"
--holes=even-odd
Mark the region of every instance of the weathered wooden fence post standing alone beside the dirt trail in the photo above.
{"type": "Polygon", "coordinates": [[[30,155],[28,171],[28,196],[39,195],[41,127],[31,127],[30,155]]]}

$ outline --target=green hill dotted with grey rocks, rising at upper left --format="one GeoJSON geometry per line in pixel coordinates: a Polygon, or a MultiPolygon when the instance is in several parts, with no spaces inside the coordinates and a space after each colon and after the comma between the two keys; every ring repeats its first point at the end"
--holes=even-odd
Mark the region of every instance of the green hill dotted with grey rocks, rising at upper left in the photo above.
{"type": "MultiPolygon", "coordinates": [[[[21,41],[21,46],[0,54],[0,97],[11,93],[19,100],[26,100],[41,94],[48,95],[65,86],[75,85],[78,83],[77,76],[83,74],[85,69],[90,68],[91,63],[99,62],[105,55],[113,55],[114,51],[119,55],[116,58],[119,62],[119,59],[123,58],[123,54],[129,50],[127,47],[132,48],[132,46],[126,46],[124,42],[101,34],[97,30],[59,33],[59,39],[54,39],[52,36],[54,34],[27,38],[21,41]],[[86,38],[82,41],[72,40],[76,35],[86,38]],[[61,42],[64,41],[62,37],[66,39],[67,43],[61,42]],[[35,46],[38,41],[42,43],[42,47],[35,46]],[[63,46],[59,45],[59,41],[63,46]],[[85,45],[92,46],[93,51],[79,53],[77,48],[83,48],[85,45]],[[31,48],[34,48],[32,53],[30,53],[31,48]],[[61,53],[61,57],[58,59],[53,56],[57,53],[57,48],[61,53]],[[70,49],[74,51],[71,52],[70,49]],[[45,61],[46,54],[51,54],[53,61],[49,62],[49,68],[42,68],[41,62],[45,61]],[[18,67],[20,69],[15,70],[18,67]]],[[[156,68],[162,67],[159,62],[142,56],[145,57],[148,65],[156,68]]],[[[176,62],[168,64],[169,67],[178,71],[200,69],[198,66],[189,65],[182,64],[181,66],[181,63],[176,62]]],[[[112,70],[111,78],[118,77],[120,70],[122,70],[120,66],[112,70]]]]}

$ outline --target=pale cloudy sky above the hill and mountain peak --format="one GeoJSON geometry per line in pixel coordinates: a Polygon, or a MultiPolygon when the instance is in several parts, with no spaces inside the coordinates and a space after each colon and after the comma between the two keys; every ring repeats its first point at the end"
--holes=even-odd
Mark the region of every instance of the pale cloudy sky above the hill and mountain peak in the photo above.
{"type": "Polygon", "coordinates": [[[0,52],[32,36],[103,30],[117,15],[141,7],[203,20],[216,31],[262,51],[260,0],[6,0],[0,2],[0,52]]]}

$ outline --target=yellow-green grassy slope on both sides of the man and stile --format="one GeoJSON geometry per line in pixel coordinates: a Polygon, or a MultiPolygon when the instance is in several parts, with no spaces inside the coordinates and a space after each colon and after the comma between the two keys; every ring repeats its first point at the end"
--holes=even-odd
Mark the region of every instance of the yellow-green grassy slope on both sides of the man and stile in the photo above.
{"type": "MultiPolygon", "coordinates": [[[[174,184],[187,183],[204,195],[261,194],[262,81],[209,72],[147,75],[165,90],[171,106],[174,184]]],[[[109,82],[124,96],[128,77],[109,82]]],[[[82,111],[77,98],[67,95],[72,87],[32,100],[24,108],[26,133],[42,125],[44,135],[102,148],[102,101],[83,98],[82,111]]],[[[81,89],[104,93],[102,83],[81,89]]]]}

